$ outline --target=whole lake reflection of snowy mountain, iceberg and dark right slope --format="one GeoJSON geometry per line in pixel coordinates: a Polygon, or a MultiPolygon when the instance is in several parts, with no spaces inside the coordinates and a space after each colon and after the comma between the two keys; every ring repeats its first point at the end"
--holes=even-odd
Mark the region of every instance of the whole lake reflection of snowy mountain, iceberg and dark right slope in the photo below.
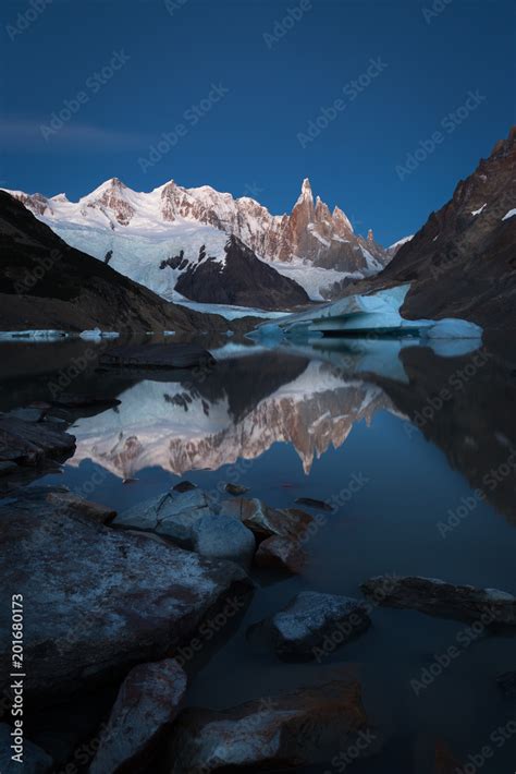
{"type": "Polygon", "coordinates": [[[122,479],[156,465],[183,475],[284,443],[309,474],[354,424],[388,411],[404,420],[407,438],[421,433],[474,489],[514,516],[516,379],[487,349],[450,358],[409,340],[320,341],[250,348],[245,356],[229,347],[216,356],[206,374],[124,384],[119,407],[77,421],[69,464],[90,459],[122,479]]]}

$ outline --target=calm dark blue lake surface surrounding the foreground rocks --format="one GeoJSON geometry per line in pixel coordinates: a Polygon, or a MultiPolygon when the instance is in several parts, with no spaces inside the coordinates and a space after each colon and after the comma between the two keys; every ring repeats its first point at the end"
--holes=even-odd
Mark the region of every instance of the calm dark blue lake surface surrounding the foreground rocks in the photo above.
{"type": "MultiPolygon", "coordinates": [[[[439,745],[464,766],[488,746],[492,755],[464,771],[513,774],[516,699],[496,684],[516,669],[513,637],[377,607],[368,631],[320,663],[285,664],[248,630],[299,591],[360,597],[360,583],[383,573],[515,593],[516,372],[486,349],[450,356],[410,341],[333,340],[210,347],[216,367],[155,379],[96,371],[107,346],[1,344],[2,410],[48,400],[56,385],[121,401],[78,416],[74,457],[35,484],[119,511],[185,479],[220,499],[233,482],[273,507],[340,504],[307,541],[303,575],[253,571],[253,600],[197,661],[188,704],[228,708],[352,674],[380,741],[352,771],[454,771],[435,769],[439,745]],[[77,359],[86,370],[72,367],[77,359]],[[459,655],[442,666],[451,646],[459,655]]],[[[87,712],[76,708],[74,723],[87,712]]],[[[49,723],[36,713],[35,741],[49,723]]]]}

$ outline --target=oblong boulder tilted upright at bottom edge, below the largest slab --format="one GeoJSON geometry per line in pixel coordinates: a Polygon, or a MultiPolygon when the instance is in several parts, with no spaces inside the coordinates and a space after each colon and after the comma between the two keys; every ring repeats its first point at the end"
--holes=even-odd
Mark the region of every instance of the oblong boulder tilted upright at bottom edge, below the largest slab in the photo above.
{"type": "Polygon", "coordinates": [[[177,715],[185,692],[186,675],[173,658],[135,666],[102,729],[89,774],[143,771],[177,715]]]}

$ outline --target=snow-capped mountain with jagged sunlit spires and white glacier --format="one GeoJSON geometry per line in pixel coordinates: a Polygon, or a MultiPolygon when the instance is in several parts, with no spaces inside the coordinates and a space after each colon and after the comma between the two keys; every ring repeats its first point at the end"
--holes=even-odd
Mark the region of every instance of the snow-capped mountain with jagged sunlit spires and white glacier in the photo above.
{"type": "Polygon", "coordinates": [[[196,261],[201,247],[223,258],[228,235],[235,235],[258,258],[302,285],[310,298],[346,278],[378,273],[389,251],[369,231],[355,234],[346,215],[314,201],[309,180],[290,215],[271,215],[255,199],[233,197],[209,185],[185,189],[170,181],[148,193],[127,188],[112,178],[78,202],[65,194],[10,191],[36,217],[69,244],[95,257],[165,299],[177,299],[177,268],[160,271],[162,261],[183,255],[196,261]]]}

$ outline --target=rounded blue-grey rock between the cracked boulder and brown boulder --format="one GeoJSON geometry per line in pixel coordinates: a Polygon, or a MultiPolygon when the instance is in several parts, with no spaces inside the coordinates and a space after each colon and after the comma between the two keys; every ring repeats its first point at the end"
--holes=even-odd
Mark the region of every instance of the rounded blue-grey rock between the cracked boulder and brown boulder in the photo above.
{"type": "Polygon", "coordinates": [[[231,516],[208,513],[193,528],[194,549],[211,559],[231,559],[247,568],[256,551],[255,535],[231,516]]]}

